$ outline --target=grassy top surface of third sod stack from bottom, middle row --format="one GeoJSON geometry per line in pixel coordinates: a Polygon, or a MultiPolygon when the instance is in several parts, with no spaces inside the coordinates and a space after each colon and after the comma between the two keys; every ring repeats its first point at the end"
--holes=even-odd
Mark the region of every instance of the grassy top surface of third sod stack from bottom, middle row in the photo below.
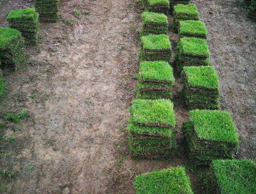
{"type": "Polygon", "coordinates": [[[143,81],[175,82],[173,68],[165,61],[141,62],[139,77],[143,81]]]}

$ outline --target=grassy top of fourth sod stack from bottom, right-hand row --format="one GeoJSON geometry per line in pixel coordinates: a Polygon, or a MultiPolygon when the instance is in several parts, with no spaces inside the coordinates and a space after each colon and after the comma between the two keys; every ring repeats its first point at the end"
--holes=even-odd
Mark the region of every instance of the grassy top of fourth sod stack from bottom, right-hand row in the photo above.
{"type": "Polygon", "coordinates": [[[182,53],[185,55],[202,57],[209,57],[210,55],[205,39],[184,37],[180,39],[178,46],[181,48],[182,53]]]}

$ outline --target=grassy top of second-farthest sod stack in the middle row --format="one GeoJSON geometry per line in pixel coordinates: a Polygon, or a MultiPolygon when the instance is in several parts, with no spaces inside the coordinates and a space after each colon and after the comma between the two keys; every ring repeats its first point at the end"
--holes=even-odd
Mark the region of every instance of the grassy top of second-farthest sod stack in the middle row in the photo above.
{"type": "Polygon", "coordinates": [[[143,23],[167,23],[168,18],[163,13],[143,12],[141,15],[143,23]]]}

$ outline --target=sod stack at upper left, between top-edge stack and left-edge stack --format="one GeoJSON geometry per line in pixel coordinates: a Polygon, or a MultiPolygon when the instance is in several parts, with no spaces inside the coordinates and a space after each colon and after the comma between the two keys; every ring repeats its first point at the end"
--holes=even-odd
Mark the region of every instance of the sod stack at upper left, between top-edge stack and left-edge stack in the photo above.
{"type": "Polygon", "coordinates": [[[7,16],[9,28],[18,30],[26,43],[35,45],[38,40],[38,15],[34,8],[11,10],[7,16]]]}

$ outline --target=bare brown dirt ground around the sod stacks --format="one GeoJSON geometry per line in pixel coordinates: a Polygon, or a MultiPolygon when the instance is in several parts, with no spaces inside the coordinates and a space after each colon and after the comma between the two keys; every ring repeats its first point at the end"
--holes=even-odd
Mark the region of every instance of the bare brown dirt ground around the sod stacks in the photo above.
{"type": "MultiPolygon", "coordinates": [[[[8,25],[9,10],[30,7],[31,2],[0,0],[0,26],[8,25]]],[[[221,107],[237,125],[237,158],[256,158],[256,23],[235,0],[195,3],[209,31],[221,107]]],[[[140,12],[135,0],[64,0],[60,21],[40,26],[40,44],[28,48],[28,65],[18,72],[4,71],[8,90],[0,114],[27,109],[30,116],[4,130],[16,140],[1,146],[0,168],[17,176],[11,181],[1,177],[3,193],[134,193],[137,174],[186,164],[180,127],[187,110],[178,79],[177,153],[170,161],[129,156],[126,125],[135,98],[140,12]],[[75,10],[80,11],[77,17],[75,10]]],[[[177,35],[170,31],[169,36],[175,46],[177,35]]],[[[188,173],[200,193],[200,174],[188,173]]]]}

